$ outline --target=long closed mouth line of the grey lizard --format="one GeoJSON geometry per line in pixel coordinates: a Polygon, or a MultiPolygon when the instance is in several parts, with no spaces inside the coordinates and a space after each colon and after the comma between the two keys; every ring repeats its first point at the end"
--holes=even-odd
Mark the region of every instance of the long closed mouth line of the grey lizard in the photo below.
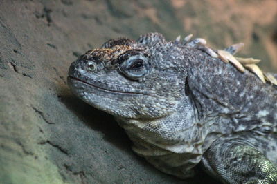
{"type": "Polygon", "coordinates": [[[118,94],[149,94],[149,93],[143,92],[141,90],[131,90],[131,89],[127,89],[127,88],[124,88],[125,91],[107,89],[107,88],[103,88],[102,86],[97,85],[95,83],[88,83],[87,81],[83,81],[82,79],[78,79],[74,76],[68,76],[67,79],[69,79],[71,81],[78,81],[80,83],[84,83],[86,85],[89,85],[93,88],[97,88],[98,90],[102,90],[102,91],[105,91],[105,92],[112,92],[112,93],[118,93],[118,94]]]}

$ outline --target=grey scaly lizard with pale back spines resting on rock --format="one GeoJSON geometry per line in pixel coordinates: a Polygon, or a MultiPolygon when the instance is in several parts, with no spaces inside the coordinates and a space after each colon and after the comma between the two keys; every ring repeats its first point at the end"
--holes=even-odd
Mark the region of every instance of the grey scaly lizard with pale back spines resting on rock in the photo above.
{"type": "Polygon", "coordinates": [[[69,87],[162,172],[189,178],[199,165],[222,183],[277,183],[277,75],[245,70],[256,60],[233,57],[242,44],[191,37],[111,39],[71,64],[69,87]]]}

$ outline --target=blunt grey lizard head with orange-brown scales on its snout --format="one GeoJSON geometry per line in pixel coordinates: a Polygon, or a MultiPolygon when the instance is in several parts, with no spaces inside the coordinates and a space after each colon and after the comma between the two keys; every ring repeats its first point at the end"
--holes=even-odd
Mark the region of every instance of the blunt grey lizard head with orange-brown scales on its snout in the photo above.
{"type": "Polygon", "coordinates": [[[122,118],[159,118],[185,95],[186,71],[161,34],[112,39],[71,64],[68,83],[82,100],[122,118]]]}

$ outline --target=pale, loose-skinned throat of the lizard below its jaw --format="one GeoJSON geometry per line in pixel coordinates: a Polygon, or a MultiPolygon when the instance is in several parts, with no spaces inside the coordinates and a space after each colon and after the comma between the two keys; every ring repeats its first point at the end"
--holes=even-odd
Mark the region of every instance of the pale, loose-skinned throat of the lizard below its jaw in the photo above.
{"type": "Polygon", "coordinates": [[[136,154],[163,172],[185,178],[193,176],[191,168],[202,159],[208,124],[197,121],[197,112],[189,98],[181,101],[177,109],[159,119],[117,117],[116,120],[133,141],[136,154]]]}

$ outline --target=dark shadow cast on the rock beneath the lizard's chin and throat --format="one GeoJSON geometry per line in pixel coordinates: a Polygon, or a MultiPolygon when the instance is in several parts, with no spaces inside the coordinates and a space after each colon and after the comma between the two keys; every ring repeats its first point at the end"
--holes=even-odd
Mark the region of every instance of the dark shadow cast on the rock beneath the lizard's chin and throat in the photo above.
{"type": "MultiPolygon", "coordinates": [[[[120,150],[127,152],[127,154],[134,154],[131,151],[132,142],[129,140],[129,137],[125,133],[122,127],[116,123],[113,116],[102,112],[96,108],[93,108],[91,105],[84,103],[81,99],[78,99],[77,96],[74,96],[71,92],[69,92],[68,88],[62,89],[63,95],[60,96],[60,101],[66,105],[66,107],[71,110],[73,114],[78,116],[80,122],[87,125],[88,128],[91,128],[96,131],[100,131],[105,134],[104,139],[113,145],[116,145],[120,150]]],[[[145,161],[140,156],[134,156],[134,158],[139,165],[143,165],[143,167],[150,167],[154,169],[150,163],[145,161]]],[[[151,170],[152,170],[151,169],[151,170]]],[[[166,174],[166,177],[172,178],[174,181],[185,183],[217,183],[213,178],[208,177],[208,175],[202,171],[198,167],[199,171],[195,178],[188,178],[186,180],[181,180],[175,176],[171,176],[166,174]]],[[[153,170],[154,173],[161,174],[159,170],[153,170]]]]}

